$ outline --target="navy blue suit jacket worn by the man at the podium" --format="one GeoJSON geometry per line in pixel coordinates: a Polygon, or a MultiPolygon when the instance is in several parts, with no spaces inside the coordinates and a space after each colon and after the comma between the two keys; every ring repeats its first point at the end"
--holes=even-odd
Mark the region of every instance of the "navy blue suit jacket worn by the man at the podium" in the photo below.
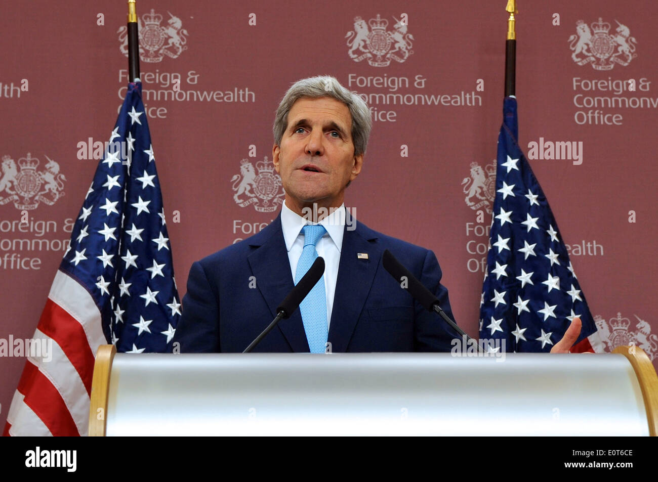
{"type": "MultiPolygon", "coordinates": [[[[332,351],[450,351],[451,339],[459,335],[415,302],[382,266],[382,253],[388,249],[438,297],[452,318],[434,253],[358,221],[352,226],[356,229],[347,226],[329,325],[332,351]],[[358,258],[357,253],[367,253],[368,258],[358,258]]],[[[184,353],[241,352],[270,324],[293,285],[279,215],[256,235],[192,265],[174,342],[184,353]]],[[[308,351],[299,309],[254,349],[308,351]]]]}

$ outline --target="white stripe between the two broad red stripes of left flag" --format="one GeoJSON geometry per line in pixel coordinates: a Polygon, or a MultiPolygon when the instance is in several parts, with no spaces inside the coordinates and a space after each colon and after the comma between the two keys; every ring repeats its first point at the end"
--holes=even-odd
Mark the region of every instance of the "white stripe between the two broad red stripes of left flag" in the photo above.
{"type": "Polygon", "coordinates": [[[52,341],[52,360],[46,362],[43,358],[32,357],[28,360],[36,365],[39,372],[45,375],[57,389],[78,427],[78,432],[86,435],[89,426],[89,395],[80,374],[55,340],[38,329],[34,332],[34,339],[44,340],[43,343],[46,343],[47,340],[52,341]]]}

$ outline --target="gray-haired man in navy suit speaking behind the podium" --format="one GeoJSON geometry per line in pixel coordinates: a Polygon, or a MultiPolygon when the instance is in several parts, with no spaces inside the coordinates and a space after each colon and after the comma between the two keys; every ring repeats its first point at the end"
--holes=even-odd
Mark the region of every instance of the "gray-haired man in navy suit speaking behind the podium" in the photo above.
{"type": "MultiPolygon", "coordinates": [[[[308,78],[290,87],[276,112],[272,148],[285,191],[282,211],[256,235],[192,265],[174,350],[243,351],[276,316],[299,277],[307,224],[324,227],[315,245],[326,263],[318,281],[322,302],[314,306],[321,308],[319,319],[326,320],[320,322],[320,337],[328,350],[451,349],[459,335],[415,302],[382,266],[388,249],[452,318],[434,253],[373,231],[343,205],[345,188],[361,172],[371,127],[363,99],[335,78],[308,78]]],[[[305,326],[311,319],[317,324],[318,316],[302,311],[282,320],[254,351],[309,352],[317,340],[310,333],[315,328],[305,326]]]]}

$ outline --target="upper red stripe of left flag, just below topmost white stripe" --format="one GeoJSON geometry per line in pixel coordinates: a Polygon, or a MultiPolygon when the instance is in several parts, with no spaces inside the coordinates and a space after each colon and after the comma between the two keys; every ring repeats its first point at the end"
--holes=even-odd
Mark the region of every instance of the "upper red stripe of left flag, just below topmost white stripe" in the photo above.
{"type": "Polygon", "coordinates": [[[87,335],[80,322],[70,316],[59,304],[48,299],[37,328],[43,334],[51,337],[63,350],[80,374],[82,383],[87,389],[87,395],[91,397],[94,358],[87,335]]]}

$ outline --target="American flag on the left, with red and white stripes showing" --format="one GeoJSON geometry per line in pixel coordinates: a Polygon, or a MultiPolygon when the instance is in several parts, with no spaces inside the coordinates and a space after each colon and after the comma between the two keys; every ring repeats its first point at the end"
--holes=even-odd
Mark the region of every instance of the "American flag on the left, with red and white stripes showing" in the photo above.
{"type": "Polygon", "coordinates": [[[99,345],[170,351],[181,305],[140,82],[109,140],[34,334],[52,360],[26,361],[3,435],[87,435],[99,345]]]}

